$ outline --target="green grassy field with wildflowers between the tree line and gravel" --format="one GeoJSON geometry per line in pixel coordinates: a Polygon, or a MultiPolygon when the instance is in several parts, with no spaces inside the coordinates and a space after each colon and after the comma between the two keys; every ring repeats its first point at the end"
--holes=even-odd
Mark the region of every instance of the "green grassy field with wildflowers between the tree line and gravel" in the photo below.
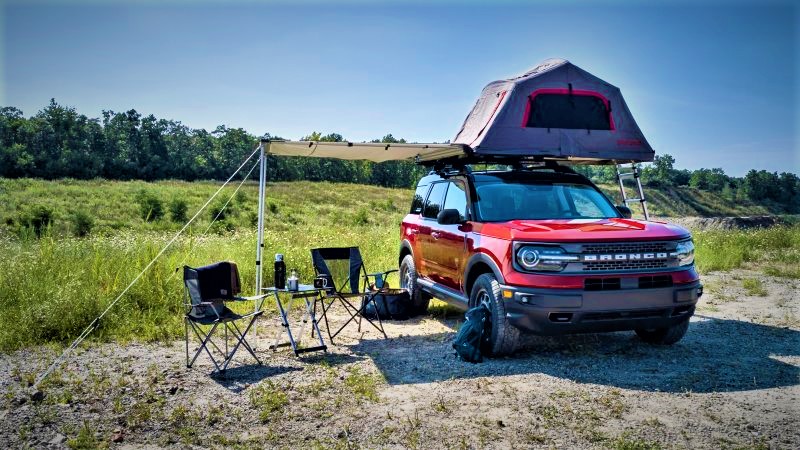
{"type": "MultiPolygon", "coordinates": [[[[189,216],[217,189],[216,183],[0,180],[0,350],[38,343],[64,343],[77,336],[135,277],[180,228],[165,217],[148,222],[135,198],[147,191],[165,206],[188,202],[189,216]],[[53,211],[43,237],[20,233],[34,205],[53,211]],[[72,237],[70,217],[94,219],[85,238],[72,237]]],[[[226,188],[222,200],[233,194],[226,188]]],[[[303,279],[312,274],[308,251],[315,246],[359,246],[370,270],[397,267],[398,225],[410,190],[333,183],[268,186],[267,267],[275,253],[303,279]]],[[[204,212],[187,234],[149,270],[95,332],[99,340],[158,340],[182,333],[183,264],[239,263],[245,292],[254,289],[257,186],[234,196],[224,220],[207,234],[204,212]]],[[[217,206],[217,202],[215,202],[217,206]]],[[[166,209],[166,208],[165,208],[166,209]]],[[[695,234],[701,271],[759,267],[777,276],[799,277],[800,227],[695,234]],[[769,261],[767,263],[767,261],[769,261]]],[[[266,283],[271,283],[265,270],[266,283]]],[[[393,280],[396,284],[396,280],[393,280]]]]}

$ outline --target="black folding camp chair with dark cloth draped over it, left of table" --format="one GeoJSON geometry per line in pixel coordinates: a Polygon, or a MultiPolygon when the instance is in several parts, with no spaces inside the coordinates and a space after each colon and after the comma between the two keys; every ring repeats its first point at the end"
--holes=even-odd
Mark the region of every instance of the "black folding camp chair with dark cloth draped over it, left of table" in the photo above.
{"type": "Polygon", "coordinates": [[[236,264],[231,262],[219,262],[208,266],[192,268],[183,266],[184,302],[188,310],[186,311],[186,367],[192,367],[200,353],[205,350],[211,361],[216,367],[216,371],[225,373],[233,355],[244,347],[256,359],[258,364],[261,360],[256,356],[255,351],[245,339],[247,332],[256,319],[264,311],[255,311],[249,314],[240,315],[233,312],[225,305],[228,301],[259,300],[265,295],[255,297],[238,297],[236,294],[241,292],[239,284],[239,271],[236,264]],[[244,321],[247,326],[244,332],[236,325],[237,321],[244,321]],[[214,333],[222,325],[225,331],[225,351],[223,352],[212,340],[214,333]],[[210,327],[208,332],[204,332],[204,327],[210,327]],[[189,361],[189,328],[192,329],[200,347],[189,361]],[[232,349],[228,347],[228,333],[233,334],[236,344],[232,349]],[[220,355],[221,364],[214,358],[213,353],[208,348],[211,345],[220,355]]]}

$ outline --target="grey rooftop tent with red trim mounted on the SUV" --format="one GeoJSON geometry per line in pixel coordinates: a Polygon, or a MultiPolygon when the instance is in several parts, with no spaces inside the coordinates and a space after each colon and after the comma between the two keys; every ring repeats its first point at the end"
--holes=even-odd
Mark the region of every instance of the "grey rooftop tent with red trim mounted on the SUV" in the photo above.
{"type": "Polygon", "coordinates": [[[476,156],[652,161],[619,88],[564,59],[489,83],[453,139],[476,156]]]}

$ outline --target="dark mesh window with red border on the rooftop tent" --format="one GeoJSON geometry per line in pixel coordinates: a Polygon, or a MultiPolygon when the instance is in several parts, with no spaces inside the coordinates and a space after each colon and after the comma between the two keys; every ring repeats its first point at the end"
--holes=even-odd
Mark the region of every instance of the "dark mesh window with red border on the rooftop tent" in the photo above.
{"type": "Polygon", "coordinates": [[[529,102],[529,128],[611,129],[610,111],[593,95],[539,94],[529,102]]]}

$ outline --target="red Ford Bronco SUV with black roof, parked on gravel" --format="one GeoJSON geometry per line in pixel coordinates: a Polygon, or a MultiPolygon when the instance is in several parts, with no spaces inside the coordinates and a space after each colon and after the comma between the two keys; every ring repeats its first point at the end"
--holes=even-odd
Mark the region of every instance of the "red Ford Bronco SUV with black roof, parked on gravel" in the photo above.
{"type": "Polygon", "coordinates": [[[401,225],[401,285],[419,311],[486,304],[493,355],[520,332],[673,344],[703,292],[691,235],[630,216],[566,166],[431,172],[401,225]]]}

